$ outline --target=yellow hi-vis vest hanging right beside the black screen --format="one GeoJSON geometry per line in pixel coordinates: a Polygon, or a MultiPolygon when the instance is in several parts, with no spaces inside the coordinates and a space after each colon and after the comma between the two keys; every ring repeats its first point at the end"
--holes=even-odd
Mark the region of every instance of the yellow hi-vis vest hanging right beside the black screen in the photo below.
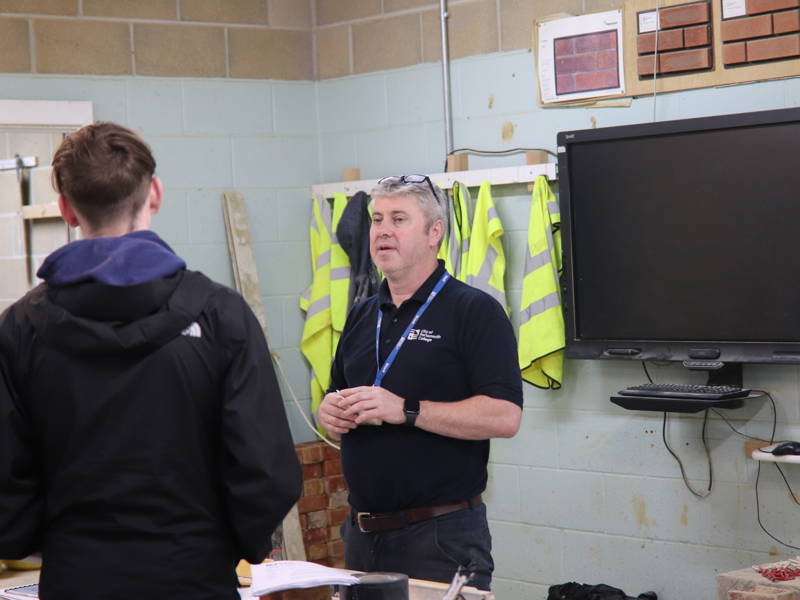
{"type": "Polygon", "coordinates": [[[564,314],[561,312],[561,210],[544,175],[533,185],[528,253],[522,282],[519,366],[536,387],[557,390],[564,374],[564,314]]]}

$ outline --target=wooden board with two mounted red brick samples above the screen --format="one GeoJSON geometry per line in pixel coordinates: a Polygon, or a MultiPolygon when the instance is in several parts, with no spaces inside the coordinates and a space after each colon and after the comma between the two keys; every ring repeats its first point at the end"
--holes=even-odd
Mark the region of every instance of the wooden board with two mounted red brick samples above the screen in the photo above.
{"type": "Polygon", "coordinates": [[[623,14],[626,95],[800,75],[800,0],[628,0],[623,14]]]}

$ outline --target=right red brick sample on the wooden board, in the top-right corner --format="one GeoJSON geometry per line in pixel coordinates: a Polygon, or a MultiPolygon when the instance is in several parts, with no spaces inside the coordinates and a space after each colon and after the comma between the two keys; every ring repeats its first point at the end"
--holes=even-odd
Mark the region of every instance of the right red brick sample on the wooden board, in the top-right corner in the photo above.
{"type": "Polygon", "coordinates": [[[747,0],[746,12],[722,21],[726,67],[800,56],[800,0],[747,0]]]}

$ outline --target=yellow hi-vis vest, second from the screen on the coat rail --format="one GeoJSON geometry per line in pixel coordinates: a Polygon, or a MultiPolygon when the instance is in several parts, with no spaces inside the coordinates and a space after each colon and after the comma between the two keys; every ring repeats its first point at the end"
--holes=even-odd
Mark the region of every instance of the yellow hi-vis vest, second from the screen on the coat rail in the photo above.
{"type": "Polygon", "coordinates": [[[508,314],[506,300],[506,255],[503,251],[503,224],[492,200],[488,181],[481,183],[467,255],[467,283],[483,290],[500,303],[508,314]]]}

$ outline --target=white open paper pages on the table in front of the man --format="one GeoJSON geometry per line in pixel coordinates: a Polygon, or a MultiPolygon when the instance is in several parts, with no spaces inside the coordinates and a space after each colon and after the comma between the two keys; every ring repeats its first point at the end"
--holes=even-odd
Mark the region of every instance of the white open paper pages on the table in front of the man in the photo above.
{"type": "Polygon", "coordinates": [[[352,585],[358,578],[342,569],[333,569],[302,560],[276,560],[251,567],[251,596],[319,585],[352,585]]]}

